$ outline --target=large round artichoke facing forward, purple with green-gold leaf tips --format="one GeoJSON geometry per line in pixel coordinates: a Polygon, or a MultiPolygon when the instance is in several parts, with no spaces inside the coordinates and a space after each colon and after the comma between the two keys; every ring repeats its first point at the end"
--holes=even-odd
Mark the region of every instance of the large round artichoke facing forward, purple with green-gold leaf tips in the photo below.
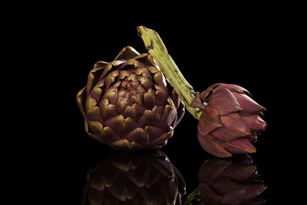
{"type": "Polygon", "coordinates": [[[185,112],[153,57],[129,46],[111,63],[95,64],[77,104],[86,133],[121,150],[166,145],[185,112]]]}

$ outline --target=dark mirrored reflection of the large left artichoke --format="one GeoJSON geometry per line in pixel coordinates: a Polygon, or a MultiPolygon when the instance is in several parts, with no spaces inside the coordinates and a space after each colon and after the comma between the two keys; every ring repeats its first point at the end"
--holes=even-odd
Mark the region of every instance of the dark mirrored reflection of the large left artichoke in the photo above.
{"type": "Polygon", "coordinates": [[[113,151],[90,172],[82,204],[181,204],[183,194],[185,181],[162,151],[113,151]]]}

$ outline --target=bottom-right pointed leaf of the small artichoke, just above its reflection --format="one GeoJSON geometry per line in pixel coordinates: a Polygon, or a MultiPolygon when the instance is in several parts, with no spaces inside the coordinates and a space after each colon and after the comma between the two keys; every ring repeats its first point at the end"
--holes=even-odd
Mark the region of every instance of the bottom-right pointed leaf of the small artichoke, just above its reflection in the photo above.
{"type": "Polygon", "coordinates": [[[232,154],[255,153],[256,149],[246,137],[225,142],[224,148],[232,154]]]}

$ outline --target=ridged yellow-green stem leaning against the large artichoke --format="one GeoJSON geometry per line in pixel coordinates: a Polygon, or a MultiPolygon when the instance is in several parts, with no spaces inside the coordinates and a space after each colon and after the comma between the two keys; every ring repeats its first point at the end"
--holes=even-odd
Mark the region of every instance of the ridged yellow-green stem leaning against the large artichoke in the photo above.
{"type": "Polygon", "coordinates": [[[190,107],[192,99],[195,97],[196,93],[188,81],[183,77],[173,59],[167,53],[159,34],[144,26],[139,26],[138,31],[143,39],[147,51],[157,61],[161,71],[169,80],[171,86],[177,92],[188,111],[196,119],[199,119],[203,111],[195,112],[194,109],[190,107]]]}

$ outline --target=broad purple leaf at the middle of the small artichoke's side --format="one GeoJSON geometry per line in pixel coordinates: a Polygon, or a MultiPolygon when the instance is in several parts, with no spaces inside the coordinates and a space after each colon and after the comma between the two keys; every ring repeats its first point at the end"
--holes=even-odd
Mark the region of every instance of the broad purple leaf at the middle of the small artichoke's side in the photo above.
{"type": "Polygon", "coordinates": [[[239,114],[230,114],[220,117],[223,127],[218,128],[210,133],[210,135],[225,142],[239,137],[251,135],[250,129],[239,114]]]}

